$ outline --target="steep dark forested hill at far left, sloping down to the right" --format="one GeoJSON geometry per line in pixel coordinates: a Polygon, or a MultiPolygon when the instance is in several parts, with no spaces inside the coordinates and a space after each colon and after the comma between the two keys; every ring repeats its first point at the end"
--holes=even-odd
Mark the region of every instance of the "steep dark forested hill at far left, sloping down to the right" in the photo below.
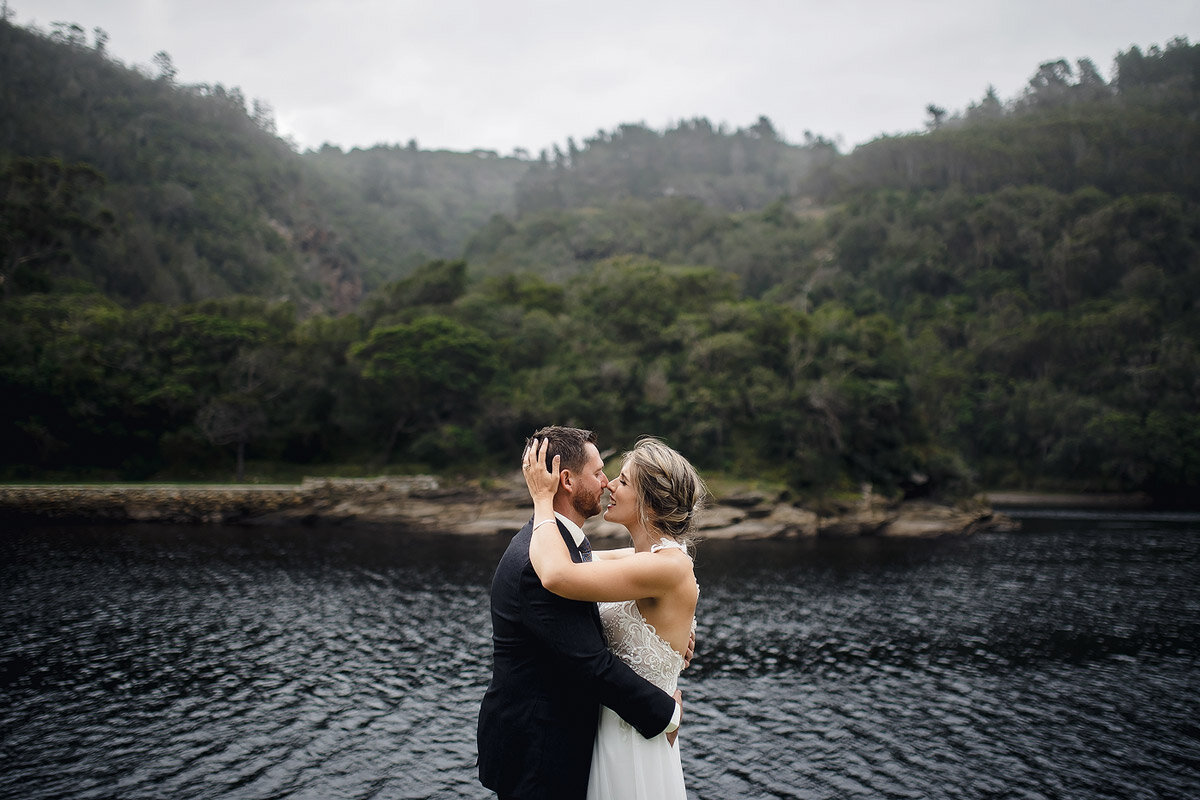
{"type": "Polygon", "coordinates": [[[167,61],[151,79],[82,36],[0,24],[5,209],[41,215],[6,230],[6,279],[48,287],[71,277],[130,302],[319,296],[318,270],[294,241],[313,224],[300,211],[301,170],[240,92],[176,86],[167,61]],[[55,175],[77,163],[97,176],[78,187],[94,229],[83,241],[61,236],[49,253],[40,240],[54,239],[55,175]]]}

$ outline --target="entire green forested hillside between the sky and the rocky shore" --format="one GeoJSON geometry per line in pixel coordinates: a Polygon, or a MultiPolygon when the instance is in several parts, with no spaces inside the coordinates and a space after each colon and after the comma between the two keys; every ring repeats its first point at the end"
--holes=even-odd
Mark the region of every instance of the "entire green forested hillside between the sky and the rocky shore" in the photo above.
{"type": "Polygon", "coordinates": [[[1194,501],[1200,46],[851,154],[763,118],[527,160],[299,155],[233,90],[0,36],[10,477],[479,469],[556,421],[804,494],[1194,501]]]}

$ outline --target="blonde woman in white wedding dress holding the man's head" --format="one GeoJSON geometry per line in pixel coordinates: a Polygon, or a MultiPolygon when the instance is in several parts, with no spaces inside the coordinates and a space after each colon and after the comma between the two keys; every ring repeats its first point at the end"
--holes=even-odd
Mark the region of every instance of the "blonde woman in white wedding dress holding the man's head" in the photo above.
{"type": "MultiPolygon", "coordinates": [[[[656,439],[625,453],[620,475],[608,482],[604,517],[629,530],[632,547],[595,551],[594,560],[571,560],[553,524],[559,457],[546,464],[546,440],[535,439],[522,470],[534,501],[529,560],[547,590],[596,602],[608,649],[667,693],[676,691],[683,654],[695,633],[700,588],[689,547],[706,489],[696,470],[656,439]]],[[[667,734],[644,739],[614,711],[602,708],[588,775],[589,800],[684,800],[679,748],[667,734]]]]}

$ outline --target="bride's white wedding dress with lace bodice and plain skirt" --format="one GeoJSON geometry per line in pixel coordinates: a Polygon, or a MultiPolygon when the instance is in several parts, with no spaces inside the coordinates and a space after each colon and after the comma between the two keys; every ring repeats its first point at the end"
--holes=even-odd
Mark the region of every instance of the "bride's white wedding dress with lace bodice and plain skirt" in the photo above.
{"type": "MultiPolygon", "coordinates": [[[[662,540],[654,551],[678,547],[662,540]]],[[[599,603],[608,649],[638,675],[673,693],[683,670],[683,656],[658,634],[637,608],[636,600],[599,603]]],[[[696,620],[691,620],[692,631],[696,620]]],[[[600,708],[600,727],[592,748],[588,800],[686,800],[679,742],[666,734],[646,739],[606,706],[600,708]]]]}

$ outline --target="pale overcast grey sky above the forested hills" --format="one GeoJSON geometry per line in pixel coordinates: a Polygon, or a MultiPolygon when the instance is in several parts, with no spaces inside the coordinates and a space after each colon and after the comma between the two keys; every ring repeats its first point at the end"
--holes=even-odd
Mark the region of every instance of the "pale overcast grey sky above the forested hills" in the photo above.
{"type": "Polygon", "coordinates": [[[7,0],[14,22],[102,28],[182,83],[240,86],[301,149],[416,139],[536,155],[596,130],[766,115],[847,151],[1003,100],[1039,64],[1200,35],[1198,0],[7,0]]]}

